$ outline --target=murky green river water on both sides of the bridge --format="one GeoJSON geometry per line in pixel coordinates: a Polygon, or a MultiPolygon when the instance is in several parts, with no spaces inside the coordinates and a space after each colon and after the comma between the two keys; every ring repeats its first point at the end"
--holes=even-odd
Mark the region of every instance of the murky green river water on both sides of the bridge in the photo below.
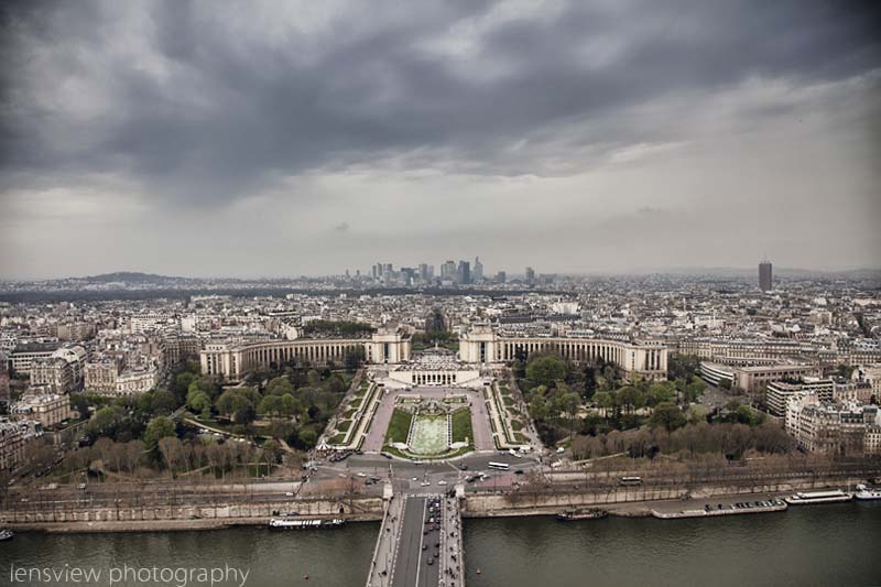
{"type": "MultiPolygon", "coordinates": [[[[0,543],[0,585],[74,585],[17,581],[10,565],[100,569],[98,585],[110,585],[111,569],[120,573],[124,564],[168,572],[247,568],[250,587],[361,587],[378,529],[376,523],[360,523],[336,531],[286,533],[259,528],[164,534],[24,533],[0,543]]],[[[881,503],[802,507],[711,520],[468,520],[465,546],[468,587],[878,586],[881,503]]],[[[182,581],[115,583],[143,584],[182,581]]],[[[238,584],[230,575],[215,583],[238,584]]]]}

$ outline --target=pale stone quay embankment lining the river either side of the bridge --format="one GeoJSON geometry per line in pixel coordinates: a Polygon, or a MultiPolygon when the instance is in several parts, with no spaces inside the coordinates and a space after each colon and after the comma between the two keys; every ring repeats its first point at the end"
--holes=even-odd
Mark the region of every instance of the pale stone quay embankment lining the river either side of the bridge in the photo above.
{"type": "MultiPolygon", "coordinates": [[[[698,489],[620,488],[612,491],[498,491],[466,493],[463,518],[514,518],[555,515],[564,510],[597,508],[617,517],[650,517],[652,511],[676,512],[704,508],[707,503],[728,507],[738,501],[782,498],[796,491],[845,488],[860,479],[811,479],[743,487],[698,489]]],[[[46,507],[47,503],[43,503],[46,507]]],[[[267,525],[273,517],[295,513],[308,518],[342,518],[346,521],[379,521],[385,504],[381,498],[298,499],[261,504],[211,504],[205,507],[80,508],[0,511],[0,525],[19,531],[44,532],[165,532],[216,530],[236,525],[267,525]]]]}

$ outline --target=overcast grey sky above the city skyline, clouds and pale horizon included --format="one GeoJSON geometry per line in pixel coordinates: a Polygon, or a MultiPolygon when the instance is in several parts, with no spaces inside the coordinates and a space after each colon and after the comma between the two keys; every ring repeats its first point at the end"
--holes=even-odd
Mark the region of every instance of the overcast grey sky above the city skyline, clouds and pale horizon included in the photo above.
{"type": "Polygon", "coordinates": [[[0,278],[881,265],[878,2],[0,9],[0,278]]]}

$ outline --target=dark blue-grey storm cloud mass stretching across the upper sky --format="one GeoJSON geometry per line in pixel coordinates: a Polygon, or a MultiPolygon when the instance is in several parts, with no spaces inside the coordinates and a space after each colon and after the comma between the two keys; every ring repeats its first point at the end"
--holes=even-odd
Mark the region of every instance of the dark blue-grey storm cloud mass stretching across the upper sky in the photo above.
{"type": "Polygon", "coordinates": [[[494,6],[369,2],[316,30],[296,15],[272,34],[249,26],[250,11],[272,7],[8,6],[3,186],[113,173],[182,204],[381,161],[565,174],[585,162],[561,170],[561,151],[678,139],[668,121],[614,118],[629,107],[750,76],[838,80],[881,63],[878,3],[573,1],[483,22],[494,6]],[[426,48],[469,22],[461,54],[426,48]],[[81,104],[51,98],[70,85],[59,96],[81,104]]]}

